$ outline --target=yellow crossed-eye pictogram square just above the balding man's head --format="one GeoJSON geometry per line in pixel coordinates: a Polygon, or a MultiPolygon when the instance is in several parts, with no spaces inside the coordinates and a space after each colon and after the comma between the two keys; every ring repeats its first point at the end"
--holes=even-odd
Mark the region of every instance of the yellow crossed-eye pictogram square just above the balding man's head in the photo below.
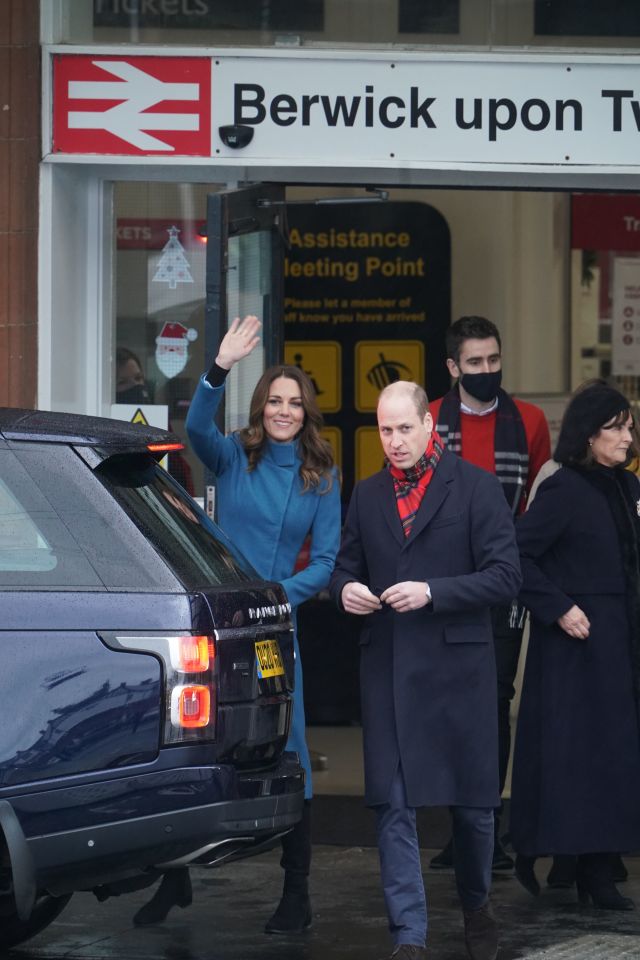
{"type": "Polygon", "coordinates": [[[376,409],[380,391],[396,380],[424,386],[424,344],[420,340],[360,340],[356,343],[356,410],[376,409]]]}

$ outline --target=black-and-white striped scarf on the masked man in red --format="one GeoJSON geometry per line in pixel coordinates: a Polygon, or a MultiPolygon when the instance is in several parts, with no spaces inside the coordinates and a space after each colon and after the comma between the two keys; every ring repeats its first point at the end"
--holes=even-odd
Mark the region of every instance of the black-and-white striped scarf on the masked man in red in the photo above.
{"type": "MultiPolygon", "coordinates": [[[[436,424],[446,447],[458,456],[462,453],[460,432],[460,394],[454,387],[445,394],[436,424]]],[[[496,477],[515,516],[522,509],[529,475],[529,448],[520,411],[505,390],[498,390],[494,437],[496,477]]]]}

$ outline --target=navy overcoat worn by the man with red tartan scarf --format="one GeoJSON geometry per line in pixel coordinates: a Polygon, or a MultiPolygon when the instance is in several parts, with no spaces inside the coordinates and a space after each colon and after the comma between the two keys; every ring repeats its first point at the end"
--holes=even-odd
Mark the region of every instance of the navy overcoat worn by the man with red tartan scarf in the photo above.
{"type": "Polygon", "coordinates": [[[492,807],[498,799],[496,671],[489,607],[514,597],[520,569],[495,476],[445,451],[405,538],[393,480],[357,484],[330,589],[380,594],[429,583],[433,603],[363,617],[365,794],[385,803],[398,762],[410,806],[492,807]]]}

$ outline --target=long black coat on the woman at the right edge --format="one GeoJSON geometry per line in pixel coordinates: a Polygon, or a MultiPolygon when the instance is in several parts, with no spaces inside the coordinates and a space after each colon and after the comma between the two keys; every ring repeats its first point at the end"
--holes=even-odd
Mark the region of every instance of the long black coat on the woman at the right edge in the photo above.
{"type": "Polygon", "coordinates": [[[607,497],[562,468],[540,486],[516,534],[531,634],[514,752],[514,847],[525,854],[640,849],[627,581],[607,497]],[[590,620],[587,640],[556,623],[573,604],[590,620]]]}

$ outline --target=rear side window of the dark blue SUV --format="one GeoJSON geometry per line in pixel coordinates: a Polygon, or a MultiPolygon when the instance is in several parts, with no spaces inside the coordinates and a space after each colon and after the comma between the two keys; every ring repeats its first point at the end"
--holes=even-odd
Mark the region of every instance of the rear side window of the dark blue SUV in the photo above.
{"type": "Polygon", "coordinates": [[[0,589],[182,589],[66,444],[0,450],[0,589]]]}

